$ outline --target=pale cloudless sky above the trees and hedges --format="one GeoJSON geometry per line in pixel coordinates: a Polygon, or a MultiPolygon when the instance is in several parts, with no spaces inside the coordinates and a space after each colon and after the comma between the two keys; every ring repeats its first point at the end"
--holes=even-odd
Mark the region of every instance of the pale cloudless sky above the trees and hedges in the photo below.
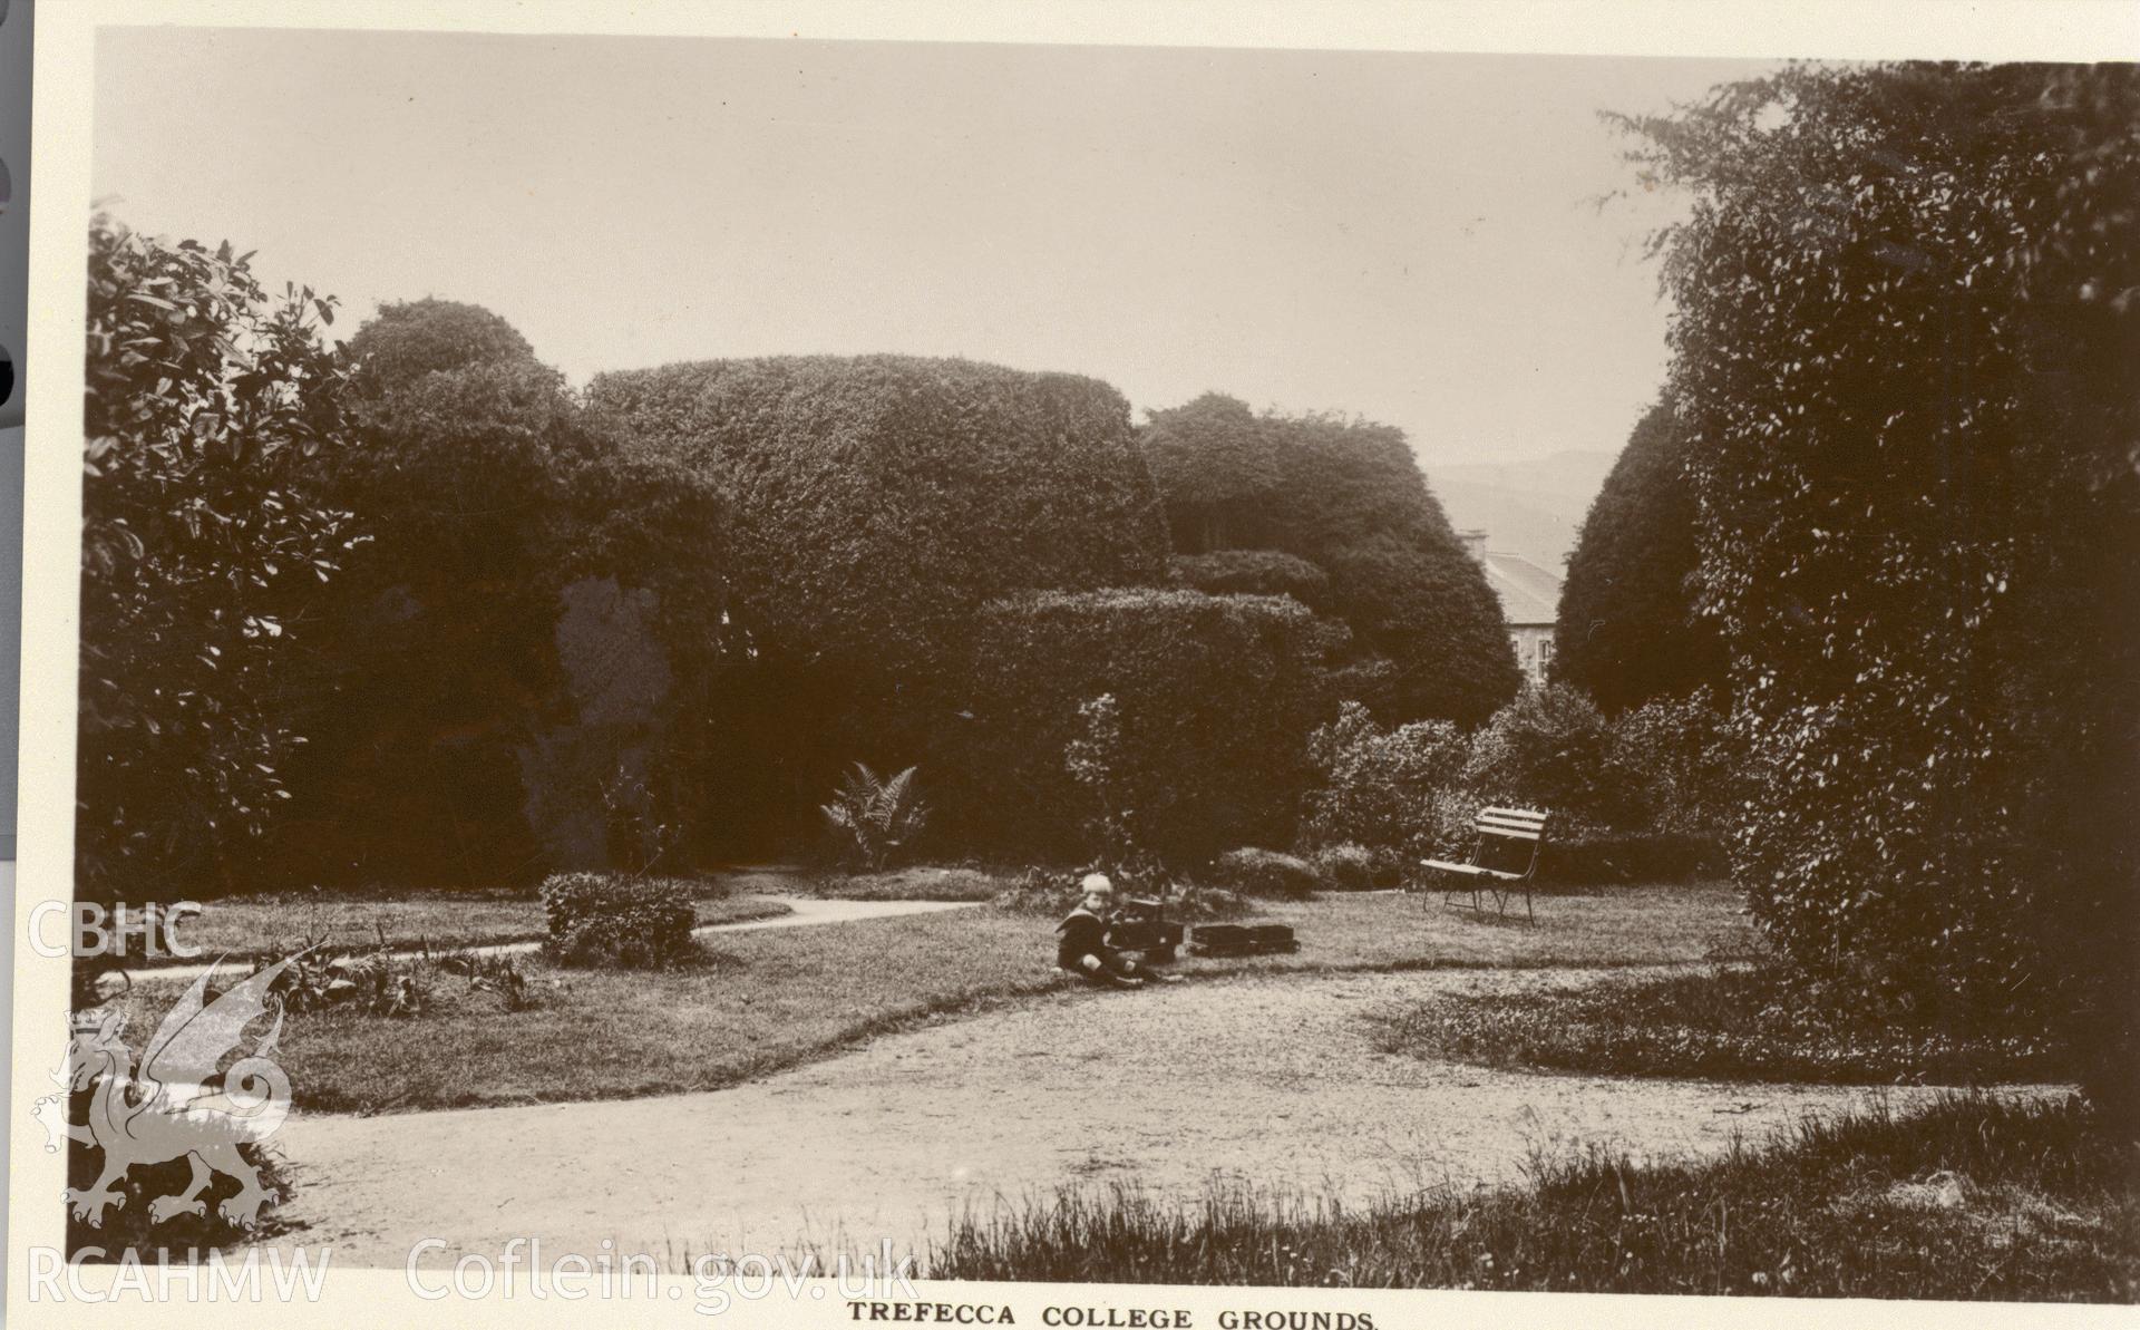
{"type": "Polygon", "coordinates": [[[1740,60],[105,30],[94,188],[606,368],[905,351],[1222,390],[1427,463],[1618,450],[1665,306],[1599,109],[1740,60]]]}

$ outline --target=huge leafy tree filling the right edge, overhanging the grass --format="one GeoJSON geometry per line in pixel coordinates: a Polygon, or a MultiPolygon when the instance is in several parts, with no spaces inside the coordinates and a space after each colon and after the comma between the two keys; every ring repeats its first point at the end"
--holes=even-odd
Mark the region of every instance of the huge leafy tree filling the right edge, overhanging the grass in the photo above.
{"type": "Polygon", "coordinates": [[[1701,606],[1800,962],[2020,1007],[2134,1103],[2140,71],[1791,69],[1626,122],[1701,606]]]}

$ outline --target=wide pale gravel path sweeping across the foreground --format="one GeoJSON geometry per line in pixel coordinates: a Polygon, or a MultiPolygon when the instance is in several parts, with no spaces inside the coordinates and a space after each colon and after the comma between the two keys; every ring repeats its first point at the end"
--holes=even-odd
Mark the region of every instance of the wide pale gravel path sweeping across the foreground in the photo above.
{"type": "MultiPolygon", "coordinates": [[[[1624,972],[1622,972],[1624,974],[1624,972]]],[[[1875,1099],[1836,1086],[1528,1075],[1385,1056],[1363,1019],[1421,998],[1569,979],[1412,972],[1064,992],[946,1022],[747,1086],[618,1103],[381,1118],[300,1116],[280,1133],[282,1216],[336,1264],[402,1266],[422,1238],[496,1257],[873,1251],[959,1208],[1213,1180],[1335,1193],[1511,1182],[1532,1146],[1703,1154],[1804,1112],[1875,1099]]],[[[1930,1090],[1887,1090],[1902,1107],[1930,1090]]]]}

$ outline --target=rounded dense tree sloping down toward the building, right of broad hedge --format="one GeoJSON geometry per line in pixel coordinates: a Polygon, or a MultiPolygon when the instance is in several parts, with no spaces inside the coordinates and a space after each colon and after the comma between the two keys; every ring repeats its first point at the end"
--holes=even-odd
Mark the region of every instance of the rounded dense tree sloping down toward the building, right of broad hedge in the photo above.
{"type": "Polygon", "coordinates": [[[1402,430],[1258,415],[1205,394],[1151,411],[1141,441],[1175,553],[1196,559],[1190,576],[1226,550],[1278,550],[1323,572],[1327,587],[1303,589],[1352,632],[1346,696],[1395,720],[1472,724],[1515,694],[1500,604],[1402,430]]]}

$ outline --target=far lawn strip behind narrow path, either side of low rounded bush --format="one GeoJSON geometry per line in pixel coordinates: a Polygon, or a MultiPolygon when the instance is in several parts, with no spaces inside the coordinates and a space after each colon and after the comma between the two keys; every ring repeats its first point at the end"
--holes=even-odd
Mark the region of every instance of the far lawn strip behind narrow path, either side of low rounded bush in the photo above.
{"type": "MultiPolygon", "coordinates": [[[[698,921],[740,923],[788,915],[790,906],[749,895],[732,895],[721,882],[704,882],[698,921]]],[[[233,895],[203,902],[201,915],[178,925],[182,944],[199,947],[197,959],[218,955],[287,955],[312,942],[336,949],[379,947],[396,951],[449,951],[492,942],[531,942],[546,936],[541,902],[533,893],[507,891],[409,891],[396,895],[336,895],[289,891],[233,895]]],[[[150,962],[154,966],[158,962],[150,962]]],[[[163,957],[160,964],[188,964],[163,957]]]]}

